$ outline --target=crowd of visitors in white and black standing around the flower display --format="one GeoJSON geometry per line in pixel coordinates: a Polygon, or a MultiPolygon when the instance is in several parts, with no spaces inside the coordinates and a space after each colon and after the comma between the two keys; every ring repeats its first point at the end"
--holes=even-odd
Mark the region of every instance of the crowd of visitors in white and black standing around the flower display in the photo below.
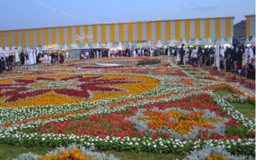
{"type": "MultiPolygon", "coordinates": [[[[215,48],[198,46],[184,46],[182,44],[179,46],[168,46],[168,47],[145,47],[145,48],[135,48],[131,50],[118,49],[92,49],[92,50],[81,50],[80,59],[94,59],[94,58],[104,58],[104,57],[140,57],[140,56],[174,56],[176,58],[176,63],[182,65],[184,63],[195,66],[195,64],[200,68],[204,66],[212,66],[215,63],[214,54],[215,48]]],[[[68,58],[68,52],[66,52],[66,58],[68,58]]],[[[226,62],[226,71],[234,72],[241,69],[240,75],[245,73],[245,65],[243,65],[243,57],[245,57],[245,62],[248,65],[248,78],[255,79],[255,46],[238,46],[234,44],[232,47],[220,46],[219,49],[220,57],[220,69],[224,69],[224,61],[226,62]],[[243,56],[244,53],[244,56],[243,56]],[[236,65],[234,65],[236,63],[236,65]],[[254,73],[254,74],[253,74],[254,73]]],[[[21,65],[37,64],[37,63],[53,63],[53,62],[64,62],[64,56],[58,52],[39,52],[38,48],[27,49],[27,52],[18,54],[17,48],[14,50],[14,54],[10,54],[4,60],[1,57],[0,67],[2,69],[7,69],[8,62],[19,62],[21,65]],[[6,67],[4,67],[6,66],[6,67]]],[[[1,69],[1,70],[2,70],[1,69]]]]}

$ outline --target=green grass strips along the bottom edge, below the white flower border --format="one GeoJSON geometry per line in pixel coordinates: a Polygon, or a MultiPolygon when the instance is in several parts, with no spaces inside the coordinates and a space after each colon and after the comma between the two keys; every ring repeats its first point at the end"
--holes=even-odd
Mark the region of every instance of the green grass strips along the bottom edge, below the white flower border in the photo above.
{"type": "MultiPolygon", "coordinates": [[[[22,146],[12,146],[9,144],[0,144],[0,160],[12,159],[19,156],[21,153],[36,153],[45,155],[47,151],[52,151],[54,148],[44,147],[44,146],[35,146],[25,148],[22,146]]],[[[112,154],[116,157],[119,157],[121,160],[154,160],[154,159],[161,159],[161,160],[169,160],[169,159],[183,159],[185,155],[175,155],[175,154],[160,154],[160,153],[147,153],[147,152],[117,152],[114,150],[108,151],[97,151],[100,153],[105,153],[107,155],[112,154]]]]}

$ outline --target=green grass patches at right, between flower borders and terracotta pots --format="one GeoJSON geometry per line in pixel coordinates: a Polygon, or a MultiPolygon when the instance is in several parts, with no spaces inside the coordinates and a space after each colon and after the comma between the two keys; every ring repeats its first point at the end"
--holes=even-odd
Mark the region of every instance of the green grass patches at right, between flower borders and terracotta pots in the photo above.
{"type": "MultiPolygon", "coordinates": [[[[215,93],[219,94],[220,96],[224,96],[227,94],[230,94],[232,92],[227,91],[227,90],[218,90],[215,91],[215,93]]],[[[240,112],[241,114],[244,115],[244,117],[253,120],[255,118],[255,105],[253,105],[250,102],[245,102],[243,104],[241,103],[234,103],[234,102],[229,102],[232,106],[235,107],[235,109],[240,112]]]]}

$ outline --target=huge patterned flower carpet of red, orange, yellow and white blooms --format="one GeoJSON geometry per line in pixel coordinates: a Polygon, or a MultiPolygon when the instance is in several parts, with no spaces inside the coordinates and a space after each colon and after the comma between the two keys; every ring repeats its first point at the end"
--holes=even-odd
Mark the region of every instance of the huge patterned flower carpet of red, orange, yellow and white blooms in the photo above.
{"type": "MultiPolygon", "coordinates": [[[[146,66],[136,65],[142,58],[103,58],[0,75],[0,143],[182,155],[216,147],[255,156],[255,122],[213,91],[244,93],[157,58],[146,66]]],[[[215,154],[225,156],[205,157],[215,154]]]]}

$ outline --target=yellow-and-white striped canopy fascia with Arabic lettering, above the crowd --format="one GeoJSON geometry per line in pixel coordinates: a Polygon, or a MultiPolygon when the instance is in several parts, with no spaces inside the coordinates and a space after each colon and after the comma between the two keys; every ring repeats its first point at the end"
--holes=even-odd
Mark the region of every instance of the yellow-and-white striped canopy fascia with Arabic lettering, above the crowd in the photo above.
{"type": "MultiPolygon", "coordinates": [[[[255,15],[246,17],[246,36],[255,34],[255,15]]],[[[233,36],[234,17],[93,24],[0,31],[0,45],[106,43],[233,36]],[[78,39],[76,35],[92,38],[78,39]]]]}

